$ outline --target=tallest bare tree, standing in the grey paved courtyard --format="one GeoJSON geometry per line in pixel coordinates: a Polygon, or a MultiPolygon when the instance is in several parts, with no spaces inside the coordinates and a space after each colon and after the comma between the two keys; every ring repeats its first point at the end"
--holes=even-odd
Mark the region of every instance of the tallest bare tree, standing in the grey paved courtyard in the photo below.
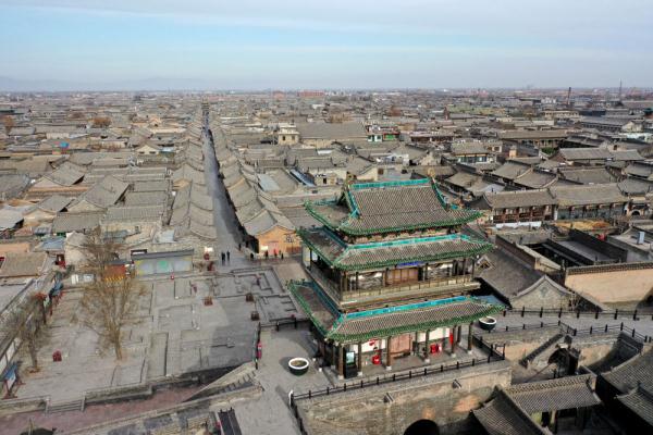
{"type": "Polygon", "coordinates": [[[123,265],[116,264],[122,244],[106,238],[99,228],[86,236],[83,269],[94,275],[82,297],[82,323],[100,338],[100,346],[112,348],[115,358],[123,358],[125,327],[138,323],[138,303],[144,287],[123,265]]]}

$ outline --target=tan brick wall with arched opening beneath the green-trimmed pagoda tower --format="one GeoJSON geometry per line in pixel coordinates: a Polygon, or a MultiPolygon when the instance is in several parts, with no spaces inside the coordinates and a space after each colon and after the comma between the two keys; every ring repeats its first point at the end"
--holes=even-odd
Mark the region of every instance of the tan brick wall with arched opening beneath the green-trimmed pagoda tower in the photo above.
{"type": "Polygon", "coordinates": [[[298,406],[310,435],[401,435],[418,420],[435,422],[440,434],[471,433],[470,411],[490,399],[495,385],[505,387],[510,378],[509,363],[502,361],[303,400],[298,406]]]}

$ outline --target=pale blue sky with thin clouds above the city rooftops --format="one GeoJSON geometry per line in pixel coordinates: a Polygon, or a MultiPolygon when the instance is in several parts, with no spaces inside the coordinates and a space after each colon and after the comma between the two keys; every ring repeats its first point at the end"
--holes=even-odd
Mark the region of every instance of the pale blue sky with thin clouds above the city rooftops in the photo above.
{"type": "Polygon", "coordinates": [[[651,0],[0,0],[0,38],[4,90],[653,86],[651,0]]]}

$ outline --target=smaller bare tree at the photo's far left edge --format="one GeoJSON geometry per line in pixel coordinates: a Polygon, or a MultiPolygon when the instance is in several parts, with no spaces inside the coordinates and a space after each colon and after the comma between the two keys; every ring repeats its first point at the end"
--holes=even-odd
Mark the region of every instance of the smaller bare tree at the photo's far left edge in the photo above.
{"type": "Polygon", "coordinates": [[[2,333],[5,337],[17,338],[27,346],[32,371],[38,372],[38,348],[47,337],[47,328],[40,327],[38,304],[42,308],[42,299],[36,295],[27,296],[14,308],[9,309],[2,319],[2,333]]]}

